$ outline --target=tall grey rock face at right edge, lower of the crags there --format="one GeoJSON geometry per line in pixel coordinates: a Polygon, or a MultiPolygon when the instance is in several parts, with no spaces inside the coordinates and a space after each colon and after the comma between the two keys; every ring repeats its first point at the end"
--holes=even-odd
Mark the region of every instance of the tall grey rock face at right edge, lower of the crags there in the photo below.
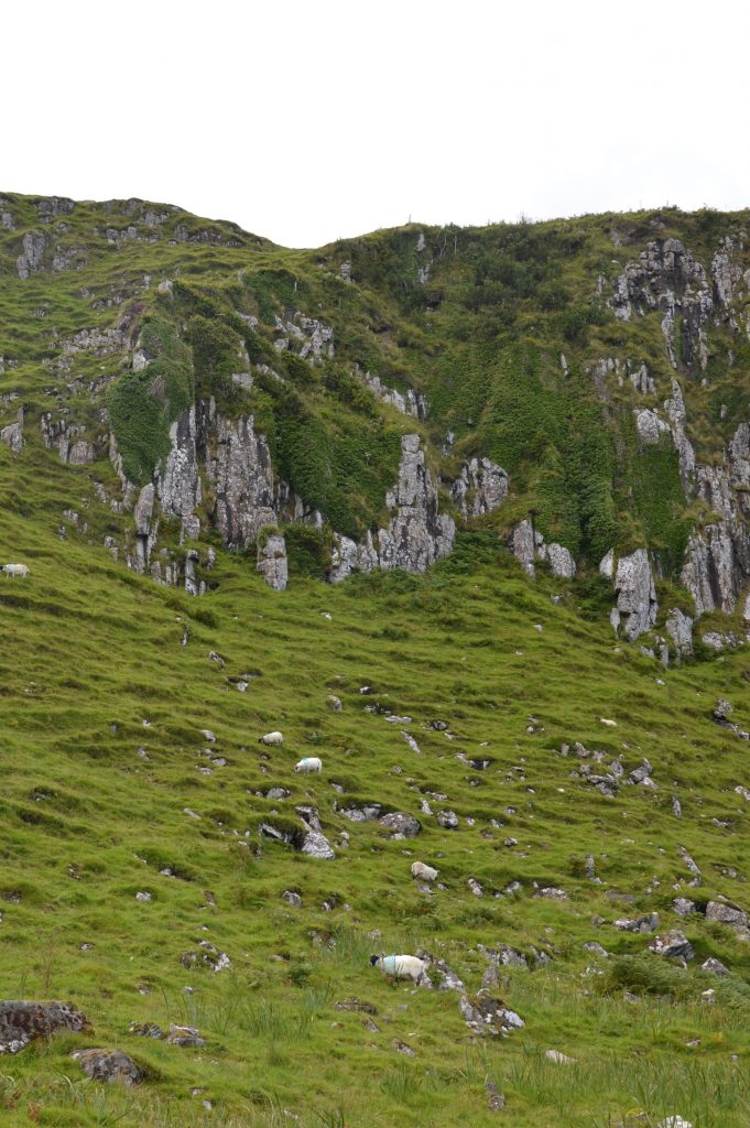
{"type": "Polygon", "coordinates": [[[742,423],[723,464],[696,470],[696,493],[720,518],[690,538],[680,576],[698,615],[716,608],[732,613],[750,578],[749,491],[750,424],[742,423]]]}

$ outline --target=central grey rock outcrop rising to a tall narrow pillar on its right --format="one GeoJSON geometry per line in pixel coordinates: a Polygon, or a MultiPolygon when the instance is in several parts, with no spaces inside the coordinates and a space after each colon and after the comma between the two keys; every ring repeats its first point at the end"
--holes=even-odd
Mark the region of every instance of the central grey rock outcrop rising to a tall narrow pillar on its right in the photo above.
{"type": "Polygon", "coordinates": [[[386,504],[392,515],[374,537],[368,534],[358,545],[336,536],[329,574],[333,583],[346,579],[355,567],[363,572],[374,567],[424,572],[453,547],[456,525],[439,512],[438,491],[424,465],[418,434],[402,438],[398,482],[387,494],[386,504]]]}

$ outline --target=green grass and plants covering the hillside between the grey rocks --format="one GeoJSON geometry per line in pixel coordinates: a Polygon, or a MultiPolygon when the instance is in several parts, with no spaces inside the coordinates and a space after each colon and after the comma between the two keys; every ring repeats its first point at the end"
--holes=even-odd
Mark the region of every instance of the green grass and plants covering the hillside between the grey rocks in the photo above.
{"type": "MultiPolygon", "coordinates": [[[[51,230],[28,199],[10,199],[19,231],[51,230]]],[[[592,272],[611,273],[614,257],[637,253],[654,217],[426,231],[434,265],[423,288],[416,227],[315,254],[223,224],[211,224],[222,245],[169,246],[175,224],[188,233],[205,227],[175,212],[158,241],[107,244],[106,227],[129,223],[147,238],[139,215],[124,202],[106,214],[79,205],[56,238],[86,245],[88,265],[23,285],[14,266],[19,231],[0,233],[0,354],[18,361],[0,377],[0,395],[18,391],[27,408],[24,452],[0,446],[0,556],[30,567],[26,581],[0,579],[0,996],[70,999],[94,1025],[91,1036],[56,1037],[0,1060],[3,1122],[464,1128],[502,1119],[487,1108],[491,1082],[519,1128],[614,1128],[628,1116],[655,1126],[673,1114],[695,1128],[741,1128],[750,950],[730,928],[679,918],[672,899],[725,897],[750,908],[748,804],[734,792],[750,785],[747,744],[711,720],[716,698],[729,697],[738,721],[750,724],[747,653],[663,670],[638,646],[616,643],[601,578],[584,570],[564,583],[540,569],[530,582],[497,536],[509,514],[537,504],[545,530],[591,558],[610,536],[660,540],[670,566],[679,556],[673,462],[655,451],[636,475],[623,422],[632,418],[630,391],[612,387],[602,406],[583,378],[598,355],[646,356],[654,403],[663,398],[670,372],[656,315],[628,327],[561,320],[590,301],[592,272]],[[617,224],[635,232],[619,250],[609,236],[617,224]],[[337,276],[344,258],[354,284],[337,276]],[[144,273],[155,283],[174,277],[174,298],[144,290],[144,273]],[[114,297],[118,305],[100,305],[114,297]],[[335,360],[310,365],[305,380],[299,360],[273,349],[273,319],[290,305],[311,316],[319,305],[334,327],[335,360]],[[29,312],[42,308],[48,317],[29,312]],[[240,314],[259,318],[254,334],[240,314]],[[152,351],[168,369],[153,432],[132,431],[143,474],[195,378],[228,412],[263,421],[277,465],[339,531],[377,522],[406,426],[427,439],[434,468],[449,426],[461,455],[480,439],[509,466],[514,460],[517,493],[422,578],[378,573],[326,587],[317,578],[329,530],[295,526],[283,593],[266,589],[252,554],[218,545],[204,597],[158,587],[102,545],[126,520],[94,494],[94,481],[113,485],[109,464],[64,467],[38,432],[42,411],[65,406],[91,435],[106,435],[100,408],[129,379],[120,359],[80,354],[65,374],[44,361],[61,338],[123,315],[133,318],[127,332],[158,329],[152,351]],[[188,323],[189,356],[186,337],[173,333],[188,323]],[[211,334],[204,323],[223,328],[211,334]],[[240,403],[226,377],[242,335],[252,362],[274,367],[285,384],[258,377],[240,403]],[[574,372],[565,387],[561,340],[574,372]],[[405,421],[367,393],[358,399],[354,362],[394,387],[426,391],[431,418],[405,421]],[[300,457],[308,433],[315,451],[300,457]],[[650,476],[659,488],[650,491],[650,476]],[[63,517],[71,508],[78,529],[63,517]],[[241,675],[246,693],[230,680],[241,675]],[[361,694],[364,686],[371,693],[361,694]],[[341,712],[330,710],[330,694],[341,712]],[[374,704],[382,713],[369,710],[374,704]],[[411,720],[394,724],[383,714],[411,720]],[[453,739],[432,720],[447,722],[453,739]],[[258,744],[276,728],[282,748],[258,744]],[[628,770],[647,757],[658,787],[606,799],[571,775],[581,761],[559,755],[576,740],[606,764],[621,755],[628,770]],[[321,757],[320,776],[294,774],[303,755],[321,757]],[[214,765],[217,757],[227,764],[214,765]],[[491,760],[485,772],[467,763],[480,758],[491,760]],[[272,786],[289,796],[266,799],[272,786]],[[420,836],[392,840],[377,822],[341,814],[361,802],[416,814],[420,836]],[[318,809],[334,861],[262,837],[264,821],[299,831],[300,804],[318,809]],[[448,809],[459,817],[456,830],[436,821],[448,809]],[[688,884],[680,847],[700,866],[699,888],[688,884]],[[584,875],[589,854],[600,884],[584,875]],[[415,858],[434,865],[444,888],[420,892],[409,874],[415,858]],[[494,896],[514,881],[519,892],[494,896]],[[535,897],[547,885],[568,898],[535,897]],[[300,893],[300,909],[283,900],[285,890],[300,893]],[[151,901],[136,901],[139,891],[151,901]],[[697,953],[687,970],[648,953],[647,936],[612,925],[653,910],[661,931],[686,931],[697,953]],[[595,926],[594,916],[605,923],[595,926]],[[583,950],[592,940],[609,959],[583,950]],[[185,967],[180,958],[200,953],[201,941],[226,952],[231,967],[185,967]],[[500,971],[498,996],[526,1022],[508,1039],[474,1041],[456,993],[394,986],[369,966],[373,951],[423,949],[475,994],[486,969],[480,945],[501,943],[530,963],[500,971]],[[535,966],[535,950],[550,962],[535,966]],[[700,972],[708,955],[731,977],[700,972]],[[714,1003],[703,996],[708,988],[714,1003]],[[336,1008],[352,996],[374,1014],[336,1008]],[[139,1038],[129,1032],[134,1021],[197,1025],[206,1046],[139,1038]],[[86,1046],[122,1048],[145,1082],[131,1091],[86,1082],[70,1059],[86,1046]],[[550,1061],[547,1049],[575,1064],[550,1061]]],[[[662,215],[667,233],[694,239],[704,258],[709,219],[662,215]]],[[[717,349],[727,333],[712,328],[717,349]]],[[[685,394],[696,441],[716,451],[729,423],[713,390],[696,384],[685,394]]],[[[743,409],[741,395],[726,403],[743,409]]],[[[130,394],[124,406],[133,407],[130,394]]],[[[16,411],[9,400],[0,424],[16,411]]],[[[206,500],[204,518],[209,508],[206,500]]],[[[177,547],[176,530],[166,527],[162,537],[177,547]]],[[[668,579],[662,590],[662,606],[672,606],[668,579]]]]}

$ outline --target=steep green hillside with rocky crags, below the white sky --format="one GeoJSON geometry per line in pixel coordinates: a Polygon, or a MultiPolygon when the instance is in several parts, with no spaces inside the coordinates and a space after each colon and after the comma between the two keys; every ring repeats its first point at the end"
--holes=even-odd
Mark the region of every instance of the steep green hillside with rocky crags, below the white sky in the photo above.
{"type": "Polygon", "coordinates": [[[8,1122],[743,1125],[742,217],[0,224],[8,1122]]]}

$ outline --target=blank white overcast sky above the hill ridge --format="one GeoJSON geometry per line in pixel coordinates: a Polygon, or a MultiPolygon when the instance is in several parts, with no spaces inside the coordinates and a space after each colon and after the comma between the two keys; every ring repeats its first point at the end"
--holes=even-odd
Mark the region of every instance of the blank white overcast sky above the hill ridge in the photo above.
{"type": "Polygon", "coordinates": [[[3,5],[0,192],[289,246],[413,221],[750,205],[741,0],[3,5]]]}

